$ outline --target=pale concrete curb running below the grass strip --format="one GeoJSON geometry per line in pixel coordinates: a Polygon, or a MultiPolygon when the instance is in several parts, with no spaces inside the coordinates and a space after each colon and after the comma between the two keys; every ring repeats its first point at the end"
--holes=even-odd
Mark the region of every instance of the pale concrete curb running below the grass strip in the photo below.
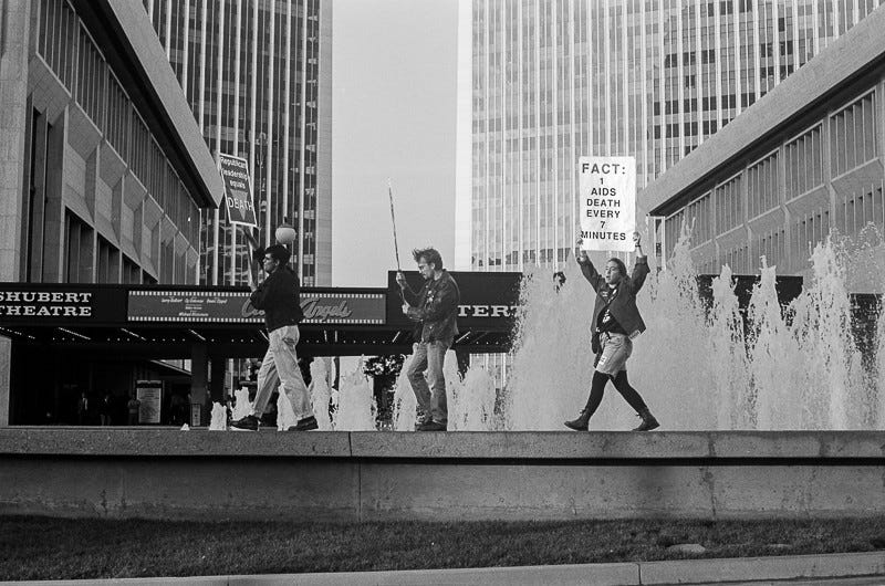
{"type": "Polygon", "coordinates": [[[521,566],[460,569],[410,569],[402,572],[340,572],[324,574],[275,574],[254,576],[202,576],[187,578],[124,578],[105,580],[56,580],[15,584],[60,585],[160,585],[200,586],[339,586],[339,585],[519,585],[593,584],[665,585],[770,583],[773,580],[853,578],[881,576],[862,584],[885,585],[885,551],[858,554],[793,555],[777,557],[738,557],[725,559],[686,559],[678,562],[635,562],[618,564],[575,564],[560,566],[521,566]]]}

